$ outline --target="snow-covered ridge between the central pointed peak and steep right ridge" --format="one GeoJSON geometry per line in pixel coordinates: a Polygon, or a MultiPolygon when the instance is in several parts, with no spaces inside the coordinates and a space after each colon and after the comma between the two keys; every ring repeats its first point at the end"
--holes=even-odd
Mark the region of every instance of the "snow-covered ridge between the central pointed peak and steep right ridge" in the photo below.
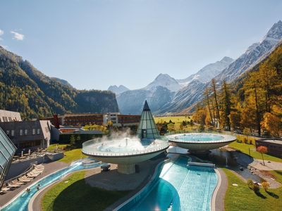
{"type": "Polygon", "coordinates": [[[227,68],[228,65],[230,65],[233,61],[233,58],[225,56],[215,63],[204,66],[204,68],[199,70],[196,74],[190,75],[188,78],[178,79],[177,82],[184,86],[187,86],[190,82],[192,82],[192,80],[195,79],[199,80],[202,83],[207,83],[216,75],[219,75],[219,73],[227,68]]]}

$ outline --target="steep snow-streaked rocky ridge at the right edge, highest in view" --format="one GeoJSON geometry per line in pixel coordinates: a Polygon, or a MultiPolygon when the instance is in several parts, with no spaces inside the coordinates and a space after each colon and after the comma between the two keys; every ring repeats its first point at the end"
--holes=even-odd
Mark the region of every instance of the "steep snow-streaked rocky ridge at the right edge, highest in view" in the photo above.
{"type": "Polygon", "coordinates": [[[239,77],[248,68],[257,64],[261,58],[264,58],[271,49],[282,38],[282,21],[279,20],[275,23],[262,41],[252,44],[245,53],[243,53],[238,59],[236,59],[231,65],[223,70],[217,77],[216,80],[231,82],[233,79],[239,77]]]}

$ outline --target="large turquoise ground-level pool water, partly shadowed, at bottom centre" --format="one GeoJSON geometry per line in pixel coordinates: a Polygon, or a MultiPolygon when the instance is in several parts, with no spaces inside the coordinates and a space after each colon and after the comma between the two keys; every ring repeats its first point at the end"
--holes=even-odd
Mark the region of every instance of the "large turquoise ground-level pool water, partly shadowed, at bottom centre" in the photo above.
{"type": "Polygon", "coordinates": [[[217,184],[210,167],[187,167],[188,158],[179,157],[159,168],[159,177],[120,210],[210,210],[217,184]]]}

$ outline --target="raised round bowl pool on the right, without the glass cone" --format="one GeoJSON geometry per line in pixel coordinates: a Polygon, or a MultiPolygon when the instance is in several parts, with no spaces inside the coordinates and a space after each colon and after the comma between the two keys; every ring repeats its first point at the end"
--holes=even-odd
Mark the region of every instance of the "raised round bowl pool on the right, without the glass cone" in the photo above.
{"type": "Polygon", "coordinates": [[[174,134],[166,138],[180,148],[186,148],[189,151],[209,151],[214,148],[226,146],[236,140],[235,136],[226,134],[174,134]]]}

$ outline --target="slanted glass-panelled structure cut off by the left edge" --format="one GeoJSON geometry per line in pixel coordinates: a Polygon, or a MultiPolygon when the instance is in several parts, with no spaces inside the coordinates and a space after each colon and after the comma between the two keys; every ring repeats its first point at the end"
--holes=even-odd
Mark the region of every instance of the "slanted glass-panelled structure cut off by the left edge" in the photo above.
{"type": "Polygon", "coordinates": [[[11,166],[13,155],[16,153],[16,146],[0,128],[0,189],[11,166]]]}

